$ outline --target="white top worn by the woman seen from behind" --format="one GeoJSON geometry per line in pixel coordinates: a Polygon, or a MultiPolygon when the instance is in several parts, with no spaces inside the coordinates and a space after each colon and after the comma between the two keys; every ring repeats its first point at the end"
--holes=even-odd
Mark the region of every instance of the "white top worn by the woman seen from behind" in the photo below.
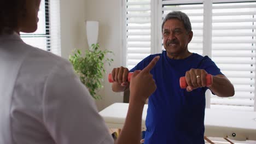
{"type": "Polygon", "coordinates": [[[0,35],[0,143],[114,143],[72,65],[0,35]]]}

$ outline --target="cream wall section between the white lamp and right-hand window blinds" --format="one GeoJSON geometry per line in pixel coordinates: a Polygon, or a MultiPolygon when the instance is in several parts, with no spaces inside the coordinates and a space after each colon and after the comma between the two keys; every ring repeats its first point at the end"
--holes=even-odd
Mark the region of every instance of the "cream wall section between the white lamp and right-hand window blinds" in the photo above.
{"type": "MultiPolygon", "coordinates": [[[[102,49],[115,53],[114,62],[109,67],[105,66],[107,73],[114,67],[121,65],[121,0],[85,0],[86,20],[99,21],[98,43],[102,49]]],[[[110,104],[123,101],[123,94],[112,92],[111,85],[106,79],[104,88],[100,92],[103,99],[98,101],[98,109],[103,109],[110,104]]]]}

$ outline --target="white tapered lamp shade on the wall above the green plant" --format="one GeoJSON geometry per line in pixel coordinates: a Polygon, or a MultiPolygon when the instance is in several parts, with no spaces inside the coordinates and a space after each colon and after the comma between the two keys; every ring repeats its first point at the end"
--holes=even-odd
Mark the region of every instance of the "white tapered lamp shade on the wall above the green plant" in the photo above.
{"type": "Polygon", "coordinates": [[[86,35],[88,45],[97,44],[98,39],[98,21],[86,21],[86,35]]]}

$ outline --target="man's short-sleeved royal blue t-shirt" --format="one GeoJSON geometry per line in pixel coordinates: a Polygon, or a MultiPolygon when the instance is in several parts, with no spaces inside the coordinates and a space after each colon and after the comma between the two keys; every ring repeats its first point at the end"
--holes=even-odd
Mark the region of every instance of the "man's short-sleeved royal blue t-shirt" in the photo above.
{"type": "Polygon", "coordinates": [[[150,71],[157,89],[149,97],[146,118],[145,143],[205,143],[205,92],[207,87],[187,92],[179,87],[179,78],[191,68],[204,69],[208,74],[222,74],[207,56],[193,53],[185,59],[171,59],[166,51],[150,55],[133,69],[142,70],[155,56],[160,56],[150,71]]]}

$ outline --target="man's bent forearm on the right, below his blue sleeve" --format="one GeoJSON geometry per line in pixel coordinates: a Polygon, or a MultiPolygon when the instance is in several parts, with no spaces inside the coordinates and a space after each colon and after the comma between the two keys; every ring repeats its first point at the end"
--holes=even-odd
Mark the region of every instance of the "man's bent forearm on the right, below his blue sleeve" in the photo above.
{"type": "Polygon", "coordinates": [[[234,86],[224,75],[212,76],[212,79],[212,86],[209,88],[214,94],[219,97],[232,97],[235,94],[234,86]]]}

